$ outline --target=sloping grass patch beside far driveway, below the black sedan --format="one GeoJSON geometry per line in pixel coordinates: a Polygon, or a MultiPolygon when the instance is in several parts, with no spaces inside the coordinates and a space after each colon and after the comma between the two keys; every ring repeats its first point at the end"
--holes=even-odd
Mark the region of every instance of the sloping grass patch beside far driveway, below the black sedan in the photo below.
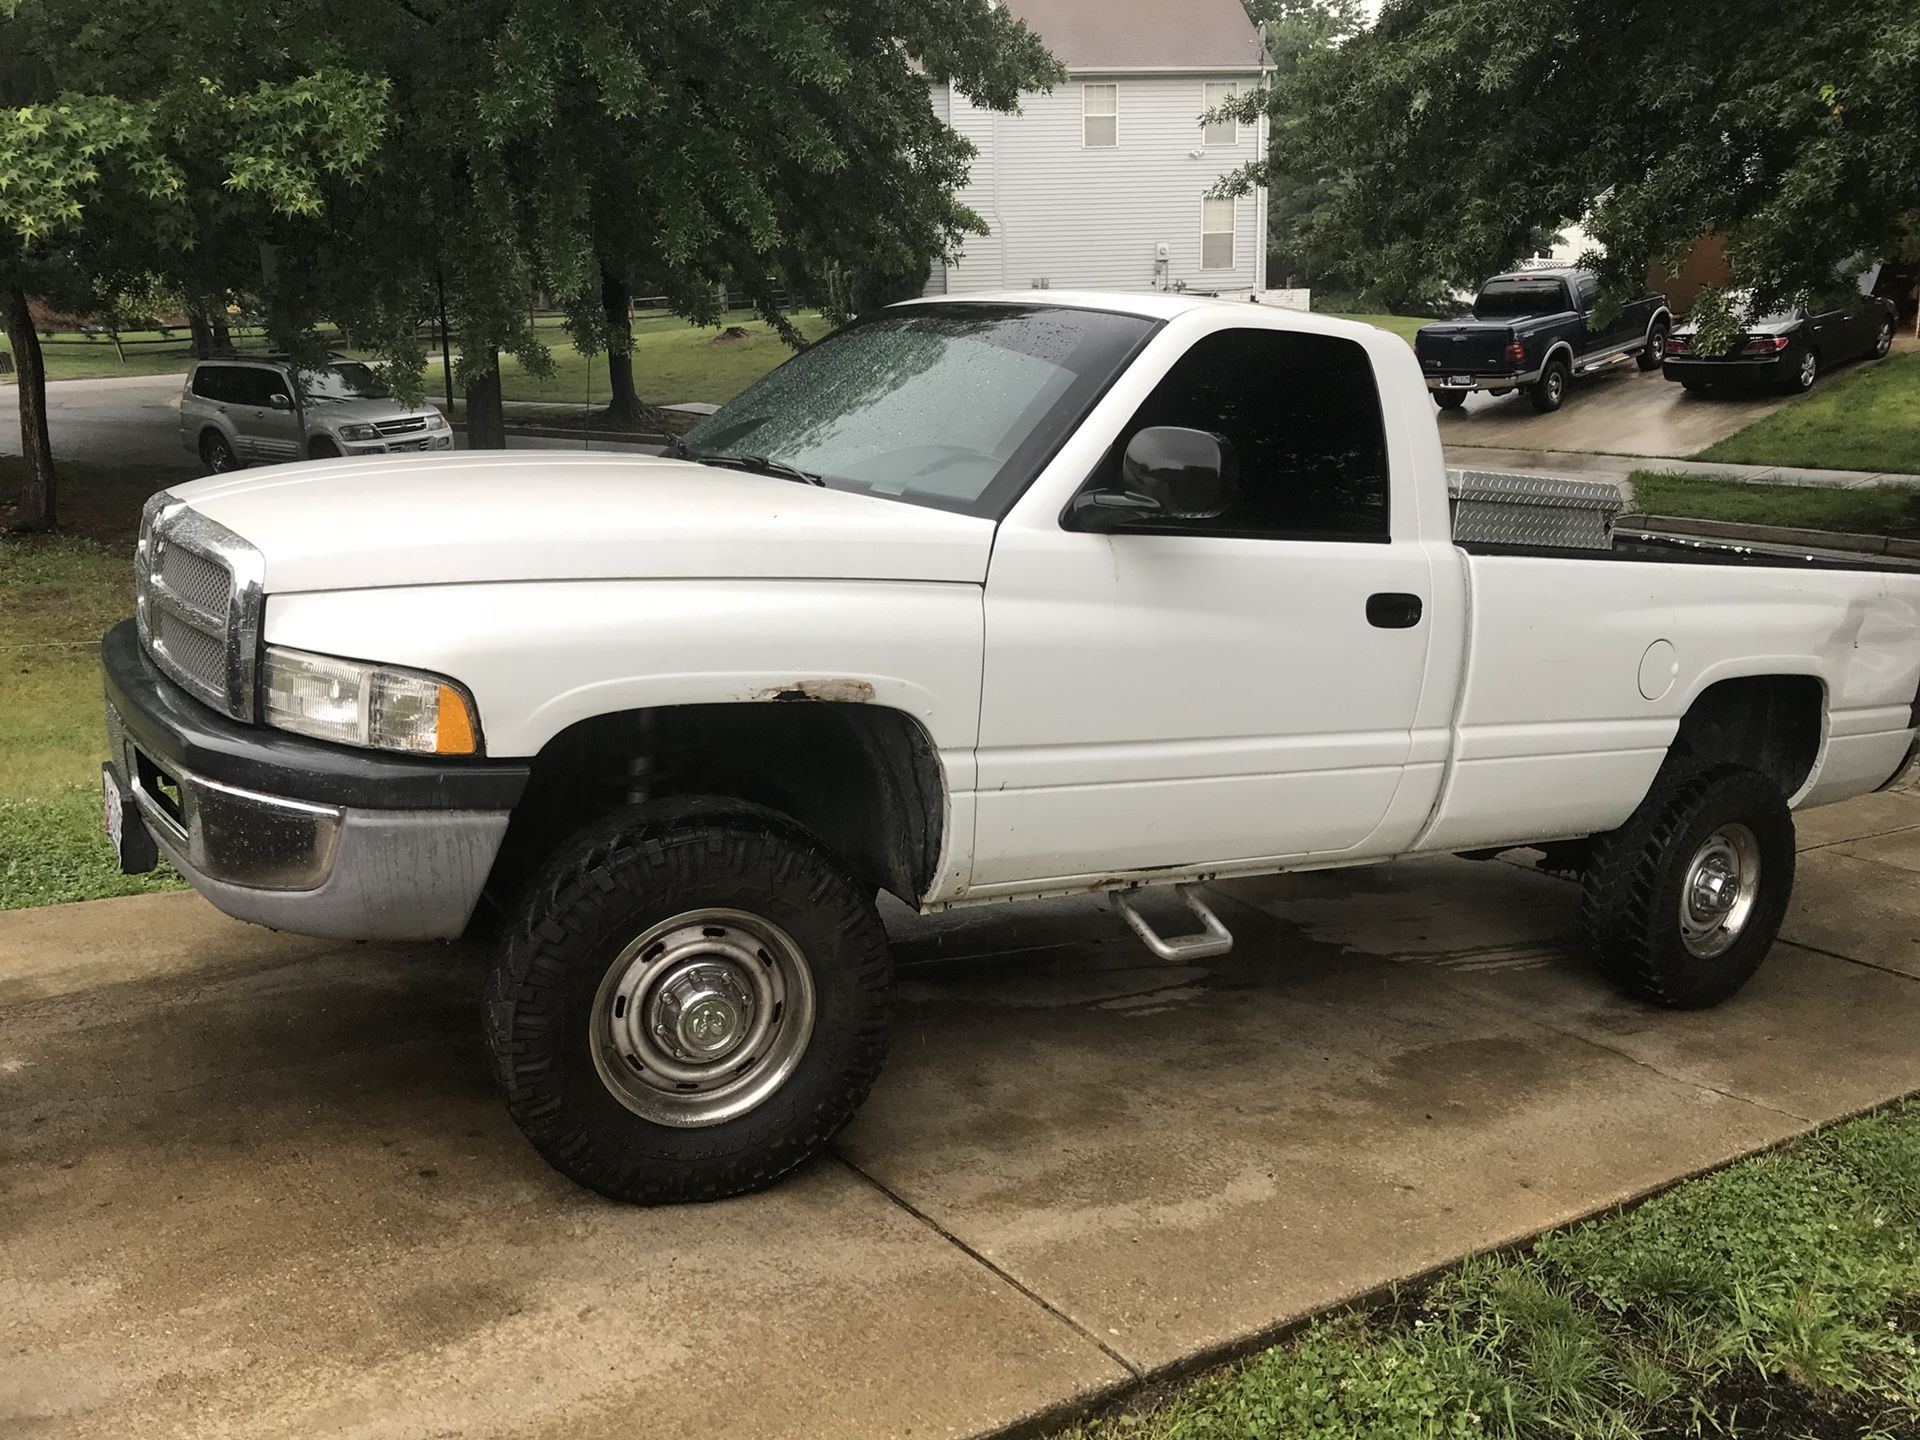
{"type": "Polygon", "coordinates": [[[1920,474],[1920,353],[1836,371],[1693,459],[1920,474]]]}

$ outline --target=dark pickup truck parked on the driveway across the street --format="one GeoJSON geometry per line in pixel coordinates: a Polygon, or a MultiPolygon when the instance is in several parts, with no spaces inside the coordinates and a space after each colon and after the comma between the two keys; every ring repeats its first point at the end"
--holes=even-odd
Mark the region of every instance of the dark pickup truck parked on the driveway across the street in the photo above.
{"type": "Polygon", "coordinates": [[[1480,286],[1471,319],[1423,324],[1413,338],[1434,403],[1450,411],[1467,403],[1469,390],[1524,390],[1536,411],[1557,411],[1576,374],[1624,359],[1659,369],[1672,328],[1667,296],[1642,296],[1605,324],[1594,323],[1597,300],[1592,271],[1496,275],[1480,286]]]}

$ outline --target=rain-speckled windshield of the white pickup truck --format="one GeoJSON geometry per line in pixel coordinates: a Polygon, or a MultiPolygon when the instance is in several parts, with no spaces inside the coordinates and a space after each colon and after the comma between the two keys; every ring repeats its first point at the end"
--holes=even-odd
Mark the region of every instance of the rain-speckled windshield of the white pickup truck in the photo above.
{"type": "Polygon", "coordinates": [[[803,349],[687,432],[858,490],[1000,515],[1154,321],[1056,305],[916,305],[803,349]]]}

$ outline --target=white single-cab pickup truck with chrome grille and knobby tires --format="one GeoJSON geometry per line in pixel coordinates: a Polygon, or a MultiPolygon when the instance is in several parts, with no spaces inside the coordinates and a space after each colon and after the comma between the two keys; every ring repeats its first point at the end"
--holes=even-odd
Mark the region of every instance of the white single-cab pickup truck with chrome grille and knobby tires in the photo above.
{"type": "Polygon", "coordinates": [[[852,1116],[881,891],[1114,891],[1206,954],[1198,881],[1542,847],[1607,975],[1701,1006],[1774,939],[1791,808],[1893,783],[1920,726],[1920,574],[1457,540],[1405,344],[1181,296],[893,307],[678,457],[184,484],[134,568],[121,862],[317,935],[486,899],[507,1106],[632,1200],[764,1185],[852,1116]]]}

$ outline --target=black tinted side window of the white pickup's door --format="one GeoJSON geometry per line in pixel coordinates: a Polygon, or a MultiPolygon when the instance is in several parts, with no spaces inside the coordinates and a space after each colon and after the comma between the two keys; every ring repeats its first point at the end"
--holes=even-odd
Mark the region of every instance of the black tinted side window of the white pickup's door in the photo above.
{"type": "Polygon", "coordinates": [[[1352,340],[1288,330],[1219,330],[1173,365],[1102,461],[1119,482],[1127,442],[1150,424],[1233,442],[1240,488],[1213,520],[1127,526],[1265,540],[1386,540],[1388,472],[1380,392],[1352,340]]]}

